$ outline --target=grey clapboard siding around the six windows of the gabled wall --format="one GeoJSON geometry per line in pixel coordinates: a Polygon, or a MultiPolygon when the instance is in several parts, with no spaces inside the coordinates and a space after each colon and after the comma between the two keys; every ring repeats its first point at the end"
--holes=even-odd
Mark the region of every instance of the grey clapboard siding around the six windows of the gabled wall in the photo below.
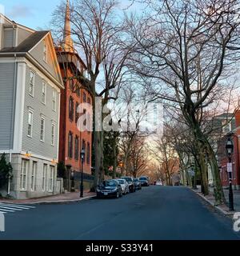
{"type": "Polygon", "coordinates": [[[54,146],[51,145],[51,126],[52,122],[58,124],[58,104],[59,97],[57,92],[57,108],[56,111],[52,110],[52,90],[53,87],[46,83],[46,105],[42,104],[42,78],[36,73],[34,97],[29,94],[30,86],[30,68],[26,67],[26,90],[25,90],[25,103],[24,103],[24,117],[23,117],[23,131],[22,131],[22,150],[31,151],[45,158],[57,159],[58,158],[58,126],[55,126],[54,146]],[[27,136],[27,123],[28,123],[28,110],[34,110],[33,121],[33,136],[27,136]],[[45,118],[45,139],[44,142],[40,141],[41,138],[41,118],[45,118]]]}

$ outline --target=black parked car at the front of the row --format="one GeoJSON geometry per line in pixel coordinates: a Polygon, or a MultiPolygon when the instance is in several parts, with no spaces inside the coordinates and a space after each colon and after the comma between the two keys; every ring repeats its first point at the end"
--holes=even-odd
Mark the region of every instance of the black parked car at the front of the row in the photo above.
{"type": "Polygon", "coordinates": [[[117,180],[109,179],[103,181],[97,188],[97,198],[104,197],[122,197],[122,186],[117,180]]]}

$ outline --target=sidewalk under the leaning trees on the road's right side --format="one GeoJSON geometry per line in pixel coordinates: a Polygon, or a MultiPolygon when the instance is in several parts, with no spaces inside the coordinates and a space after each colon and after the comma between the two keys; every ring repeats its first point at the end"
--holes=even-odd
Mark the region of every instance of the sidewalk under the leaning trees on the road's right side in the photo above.
{"type": "MultiPolygon", "coordinates": [[[[195,193],[197,193],[201,198],[209,202],[212,206],[216,207],[219,211],[221,211],[223,214],[226,215],[233,215],[234,212],[231,212],[228,208],[228,205],[220,205],[220,206],[215,206],[215,199],[214,199],[214,189],[210,187],[210,194],[207,196],[204,196],[201,193],[201,186],[198,186],[198,190],[193,190],[195,193]]],[[[226,198],[226,202],[228,204],[229,198],[228,198],[228,190],[223,190],[226,198]]],[[[239,190],[234,190],[234,210],[235,212],[240,212],[240,191],[239,190]]]]}

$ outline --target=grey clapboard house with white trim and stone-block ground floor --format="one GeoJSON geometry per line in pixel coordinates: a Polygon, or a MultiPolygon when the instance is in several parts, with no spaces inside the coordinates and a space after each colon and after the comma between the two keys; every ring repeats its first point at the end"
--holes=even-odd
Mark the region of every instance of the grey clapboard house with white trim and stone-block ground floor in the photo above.
{"type": "Polygon", "coordinates": [[[3,15],[1,20],[0,154],[6,153],[14,168],[10,194],[18,199],[58,194],[64,86],[53,39],[50,31],[32,30],[3,15]]]}

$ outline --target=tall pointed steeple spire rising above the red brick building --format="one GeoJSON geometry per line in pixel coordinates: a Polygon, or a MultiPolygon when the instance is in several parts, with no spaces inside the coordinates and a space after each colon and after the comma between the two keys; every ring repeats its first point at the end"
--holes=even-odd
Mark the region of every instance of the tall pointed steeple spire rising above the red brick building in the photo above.
{"type": "Polygon", "coordinates": [[[64,47],[64,50],[66,50],[67,52],[74,52],[74,42],[71,38],[69,0],[66,0],[65,25],[64,25],[64,32],[63,32],[63,47],[64,47]]]}

